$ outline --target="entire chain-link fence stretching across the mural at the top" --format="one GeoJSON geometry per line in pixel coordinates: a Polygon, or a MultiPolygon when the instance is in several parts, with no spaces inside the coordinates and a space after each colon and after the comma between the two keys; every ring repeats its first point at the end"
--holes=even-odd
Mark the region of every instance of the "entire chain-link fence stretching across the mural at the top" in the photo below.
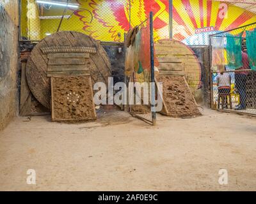
{"type": "Polygon", "coordinates": [[[210,34],[256,22],[255,13],[250,10],[255,3],[211,0],[20,1],[20,36],[22,40],[30,41],[42,40],[59,30],[78,31],[100,41],[123,42],[124,34],[145,21],[150,11],[154,13],[155,41],[173,37],[186,45],[208,45],[210,34]]]}

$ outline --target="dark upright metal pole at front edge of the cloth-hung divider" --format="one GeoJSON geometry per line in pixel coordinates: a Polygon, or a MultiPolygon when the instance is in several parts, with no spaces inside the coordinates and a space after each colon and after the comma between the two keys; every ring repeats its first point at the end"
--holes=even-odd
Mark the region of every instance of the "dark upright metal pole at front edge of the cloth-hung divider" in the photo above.
{"type": "Polygon", "coordinates": [[[154,69],[154,25],[153,12],[150,12],[150,71],[151,71],[151,112],[153,126],[156,126],[156,110],[155,110],[155,69],[154,69]],[[153,85],[154,84],[154,85],[153,85]]]}

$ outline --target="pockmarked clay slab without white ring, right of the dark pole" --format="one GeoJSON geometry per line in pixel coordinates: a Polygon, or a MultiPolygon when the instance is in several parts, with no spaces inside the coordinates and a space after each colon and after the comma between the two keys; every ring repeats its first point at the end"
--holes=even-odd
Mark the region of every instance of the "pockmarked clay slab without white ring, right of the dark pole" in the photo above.
{"type": "Polygon", "coordinates": [[[161,113],[182,118],[202,115],[184,77],[159,76],[158,82],[163,82],[164,108],[161,113]]]}

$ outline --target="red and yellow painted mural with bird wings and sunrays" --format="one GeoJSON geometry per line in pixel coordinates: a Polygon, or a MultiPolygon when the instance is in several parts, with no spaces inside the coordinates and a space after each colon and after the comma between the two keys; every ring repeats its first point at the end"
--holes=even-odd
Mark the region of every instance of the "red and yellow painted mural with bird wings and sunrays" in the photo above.
{"type": "MultiPolygon", "coordinates": [[[[129,30],[129,0],[76,0],[72,3],[78,3],[79,9],[68,11],[68,15],[74,13],[69,19],[63,20],[61,30],[83,32],[102,41],[124,41],[124,33],[129,30]],[[93,20],[90,13],[83,9],[90,10],[93,20]]],[[[63,7],[52,6],[50,10],[44,11],[44,15],[60,15],[62,11],[63,7]],[[56,11],[59,13],[56,14],[56,11]]],[[[168,38],[168,0],[131,0],[131,26],[146,20],[150,11],[154,12],[155,40],[168,38]]],[[[40,38],[44,38],[47,33],[55,33],[59,22],[60,19],[40,20],[40,38]]],[[[205,44],[209,33],[253,22],[256,22],[255,13],[230,3],[211,0],[173,1],[173,38],[188,45],[205,44]],[[211,29],[202,29],[205,27],[211,29]]]]}

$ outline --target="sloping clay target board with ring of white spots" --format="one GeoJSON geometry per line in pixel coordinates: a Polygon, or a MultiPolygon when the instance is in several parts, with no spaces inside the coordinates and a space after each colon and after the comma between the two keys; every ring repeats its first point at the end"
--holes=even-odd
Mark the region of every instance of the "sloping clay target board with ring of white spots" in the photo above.
{"type": "Polygon", "coordinates": [[[52,121],[94,120],[92,81],[86,77],[51,77],[52,121]]]}

